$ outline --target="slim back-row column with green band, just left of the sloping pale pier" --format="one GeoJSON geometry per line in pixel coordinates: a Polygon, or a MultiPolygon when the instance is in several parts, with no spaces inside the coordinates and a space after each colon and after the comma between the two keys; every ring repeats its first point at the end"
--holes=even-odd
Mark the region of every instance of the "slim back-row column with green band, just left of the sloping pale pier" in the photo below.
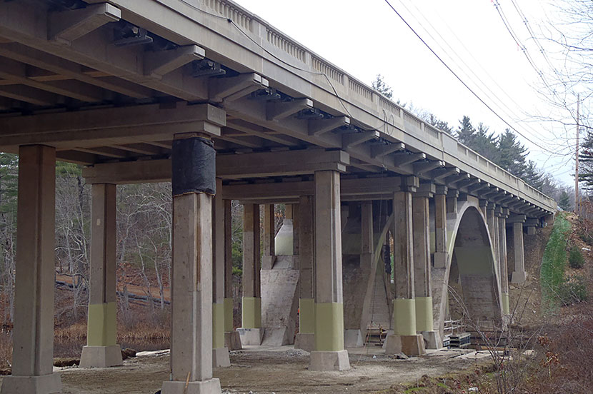
{"type": "Polygon", "coordinates": [[[261,288],[259,261],[259,205],[243,206],[243,298],[241,298],[242,345],[261,345],[261,288]]]}

